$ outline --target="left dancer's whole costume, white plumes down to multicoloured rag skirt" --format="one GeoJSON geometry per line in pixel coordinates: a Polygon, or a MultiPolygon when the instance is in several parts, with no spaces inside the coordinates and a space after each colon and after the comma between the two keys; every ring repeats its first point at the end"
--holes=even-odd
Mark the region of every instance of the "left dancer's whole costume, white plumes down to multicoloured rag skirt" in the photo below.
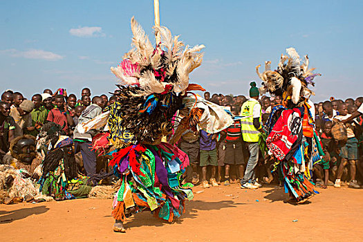
{"type": "MultiPolygon", "coordinates": [[[[121,82],[118,100],[108,109],[106,135],[108,145],[115,148],[107,153],[113,157],[109,165],[121,180],[112,214],[116,221],[125,221],[135,212],[151,210],[155,216],[173,221],[183,214],[185,199],[193,198],[192,190],[180,184],[189,158],[174,147],[175,142],[190,128],[192,118],[201,120],[200,128],[209,133],[225,129],[233,121],[221,115],[225,112],[220,107],[190,93],[205,91],[189,84],[189,73],[201,65],[203,45],[183,48],[183,42],[167,28],[155,26],[161,41],[153,47],[133,18],[131,30],[133,48],[119,66],[111,67],[121,82]],[[171,135],[171,120],[177,111],[183,111],[185,118],[169,145],[161,138],[171,135]]],[[[104,147],[104,138],[98,137],[93,147],[104,147]]]]}

